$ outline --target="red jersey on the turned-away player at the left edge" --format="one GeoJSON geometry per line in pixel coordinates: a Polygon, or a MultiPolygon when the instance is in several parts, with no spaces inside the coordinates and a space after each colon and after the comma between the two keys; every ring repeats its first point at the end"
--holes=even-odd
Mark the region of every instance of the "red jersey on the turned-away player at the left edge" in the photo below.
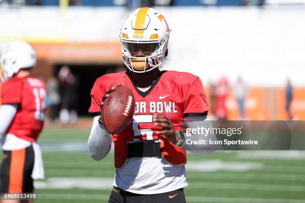
{"type": "Polygon", "coordinates": [[[45,118],[46,90],[43,81],[32,78],[11,78],[2,84],[2,104],[18,104],[7,133],[30,142],[37,140],[45,118]]]}

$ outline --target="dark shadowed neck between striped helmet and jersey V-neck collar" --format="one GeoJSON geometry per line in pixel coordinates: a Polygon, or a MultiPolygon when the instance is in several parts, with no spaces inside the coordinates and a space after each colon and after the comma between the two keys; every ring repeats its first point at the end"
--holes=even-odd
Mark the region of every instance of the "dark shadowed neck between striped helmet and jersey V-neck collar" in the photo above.
{"type": "Polygon", "coordinates": [[[130,80],[139,88],[147,88],[161,75],[161,71],[158,68],[154,68],[152,71],[144,73],[136,73],[130,71],[128,76],[130,80]]]}

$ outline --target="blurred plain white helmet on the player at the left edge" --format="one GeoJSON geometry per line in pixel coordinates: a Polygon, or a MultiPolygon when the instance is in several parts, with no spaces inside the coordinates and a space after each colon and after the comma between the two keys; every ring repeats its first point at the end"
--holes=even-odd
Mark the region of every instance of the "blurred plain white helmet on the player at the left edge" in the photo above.
{"type": "Polygon", "coordinates": [[[9,42],[1,51],[0,63],[2,66],[0,79],[6,81],[20,69],[34,67],[36,53],[34,48],[26,42],[9,42]]]}

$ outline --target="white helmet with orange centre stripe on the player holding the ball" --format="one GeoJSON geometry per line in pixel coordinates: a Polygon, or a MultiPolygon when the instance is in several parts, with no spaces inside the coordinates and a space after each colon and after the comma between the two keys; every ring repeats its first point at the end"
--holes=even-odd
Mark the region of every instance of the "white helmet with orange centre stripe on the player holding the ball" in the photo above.
{"type": "Polygon", "coordinates": [[[165,18],[157,10],[143,7],[132,12],[125,19],[120,34],[126,66],[136,73],[163,66],[166,63],[169,32],[165,18]],[[141,56],[137,54],[140,51],[141,56]]]}

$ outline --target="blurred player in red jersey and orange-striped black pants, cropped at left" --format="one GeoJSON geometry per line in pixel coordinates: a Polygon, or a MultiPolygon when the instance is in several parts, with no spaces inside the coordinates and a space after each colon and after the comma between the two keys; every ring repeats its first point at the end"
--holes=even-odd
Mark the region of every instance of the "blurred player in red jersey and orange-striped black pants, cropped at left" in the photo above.
{"type": "MultiPolygon", "coordinates": [[[[45,118],[46,90],[43,81],[31,77],[35,50],[25,42],[11,42],[1,52],[2,66],[0,134],[3,160],[1,193],[32,193],[33,178],[44,178],[36,140],[45,118]]],[[[19,203],[5,200],[2,203],[19,203]]],[[[21,201],[20,201],[21,202],[21,201]]],[[[23,202],[31,202],[23,201],[23,202]]]]}

